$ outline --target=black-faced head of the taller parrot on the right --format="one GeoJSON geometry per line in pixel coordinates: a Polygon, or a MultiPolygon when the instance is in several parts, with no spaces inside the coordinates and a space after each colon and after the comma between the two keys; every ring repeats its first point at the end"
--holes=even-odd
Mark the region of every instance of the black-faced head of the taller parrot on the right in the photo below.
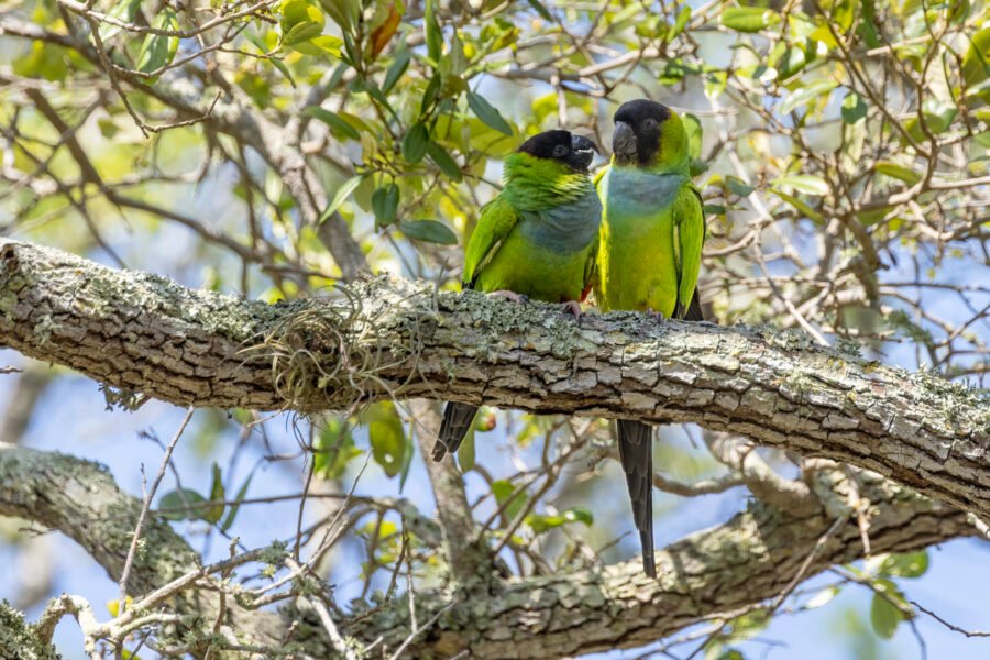
{"type": "Polygon", "coordinates": [[[676,112],[649,99],[615,112],[612,153],[619,165],[678,167],[688,163],[688,134],[676,112]]]}

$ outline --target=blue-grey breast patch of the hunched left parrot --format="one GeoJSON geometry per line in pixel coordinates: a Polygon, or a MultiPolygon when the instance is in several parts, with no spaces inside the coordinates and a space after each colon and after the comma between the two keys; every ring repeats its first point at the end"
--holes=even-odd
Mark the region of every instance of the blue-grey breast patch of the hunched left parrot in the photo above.
{"type": "Polygon", "coordinates": [[[537,245],[560,253],[586,250],[598,234],[602,202],[594,188],[573,201],[542,211],[524,211],[519,231],[537,245]]]}

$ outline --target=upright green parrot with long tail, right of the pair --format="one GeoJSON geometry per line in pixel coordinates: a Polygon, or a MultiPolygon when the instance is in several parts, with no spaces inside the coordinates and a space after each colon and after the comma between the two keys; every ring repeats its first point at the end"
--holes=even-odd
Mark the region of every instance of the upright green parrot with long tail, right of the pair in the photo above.
{"type": "MultiPolygon", "coordinates": [[[[691,183],[688,132],[678,113],[654,101],[623,103],[615,113],[612,163],[597,178],[602,231],[595,305],[703,321],[697,294],[705,217],[691,183]]],[[[642,568],[653,559],[652,427],[617,424],[632,517],[642,543],[642,568]]]]}

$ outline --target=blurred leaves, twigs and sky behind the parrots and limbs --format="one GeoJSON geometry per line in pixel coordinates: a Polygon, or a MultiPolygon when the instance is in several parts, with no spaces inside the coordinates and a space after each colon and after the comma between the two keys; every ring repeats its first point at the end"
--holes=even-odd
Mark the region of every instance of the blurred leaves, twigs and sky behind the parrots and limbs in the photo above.
{"type": "MultiPolygon", "coordinates": [[[[334,296],[334,284],[365,271],[457,288],[501,158],[558,127],[607,151],[612,112],[648,97],[690,129],[711,318],[798,327],[983,387],[988,15],[982,0],[7,0],[0,227],[252,299],[334,296]]],[[[24,367],[4,386],[2,439],[72,444],[140,492],[139,457],[160,458],[138,429],[155,424],[167,436],[175,410],[100,413],[96,385],[24,367]],[[53,406],[72,411],[61,430],[38,419],[53,406]],[[108,436],[140,449],[121,457],[108,436]]],[[[207,556],[222,554],[224,536],[263,544],[293,537],[297,515],[319,525],[363,475],[320,570],[359,609],[385,597],[403,561],[433,584],[442,559],[403,527],[433,509],[411,418],[393,403],[326,419],[197,413],[176,459],[184,486],[163,488],[156,506],[185,520],[207,556]],[[175,506],[190,498],[226,504],[175,506]]],[[[697,499],[663,495],[663,542],[745,505],[732,452],[697,429],[661,438],[658,487],[724,485],[697,499]]],[[[508,570],[635,554],[612,453],[604,422],[480,415],[459,462],[508,570]]],[[[800,471],[789,457],[761,455],[783,477],[800,471]]],[[[14,525],[4,539],[11,562],[33,565],[3,583],[22,606],[78,570],[35,548],[51,538],[14,525]]],[[[795,594],[794,608],[867,584],[872,614],[860,607],[842,629],[889,638],[903,618],[891,605],[904,598],[898,580],[927,562],[844,569],[795,594]],[[893,596],[877,605],[878,588],[893,596]]],[[[768,624],[737,622],[706,652],[772,649],[744,644],[768,624]]],[[[880,657],[872,644],[850,657],[880,657]]]]}

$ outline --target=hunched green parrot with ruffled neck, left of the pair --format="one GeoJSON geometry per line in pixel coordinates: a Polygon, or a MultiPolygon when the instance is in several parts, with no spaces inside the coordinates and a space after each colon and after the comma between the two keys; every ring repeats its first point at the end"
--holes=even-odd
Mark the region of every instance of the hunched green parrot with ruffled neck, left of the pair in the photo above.
{"type": "MultiPolygon", "coordinates": [[[[587,167],[597,152],[568,131],[534,135],[505,160],[503,189],[482,207],[464,255],[465,289],[515,301],[563,302],[580,316],[590,290],[602,202],[587,167]]],[[[455,452],[477,406],[451,403],[433,460],[455,452]]]]}

